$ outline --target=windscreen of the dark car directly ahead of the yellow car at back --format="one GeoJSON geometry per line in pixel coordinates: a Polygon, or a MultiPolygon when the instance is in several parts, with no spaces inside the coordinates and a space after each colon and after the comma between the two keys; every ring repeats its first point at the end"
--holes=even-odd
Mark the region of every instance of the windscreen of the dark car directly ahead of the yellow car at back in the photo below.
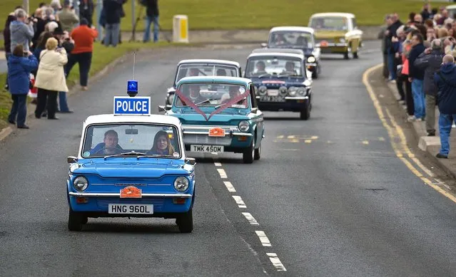
{"type": "Polygon", "coordinates": [[[306,32],[274,32],[269,36],[268,47],[313,48],[312,35],[306,32]]]}

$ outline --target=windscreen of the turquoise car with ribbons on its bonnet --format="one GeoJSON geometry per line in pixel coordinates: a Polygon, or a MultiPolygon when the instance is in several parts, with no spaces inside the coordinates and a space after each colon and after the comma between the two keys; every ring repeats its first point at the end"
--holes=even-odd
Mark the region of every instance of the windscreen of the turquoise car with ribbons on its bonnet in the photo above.
{"type": "MultiPolygon", "coordinates": [[[[182,100],[178,95],[176,106],[183,107],[191,103],[202,107],[216,107],[229,103],[239,95],[245,93],[244,85],[228,83],[183,83],[178,88],[178,93],[182,93],[190,103],[182,100]]],[[[237,102],[230,105],[230,108],[248,108],[248,99],[240,98],[237,102]]]]}

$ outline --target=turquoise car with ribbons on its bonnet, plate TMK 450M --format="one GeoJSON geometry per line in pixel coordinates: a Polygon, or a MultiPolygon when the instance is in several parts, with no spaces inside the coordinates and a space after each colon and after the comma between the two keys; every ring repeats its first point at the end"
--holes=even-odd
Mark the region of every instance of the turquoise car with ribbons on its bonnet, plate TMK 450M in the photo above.
{"type": "Polygon", "coordinates": [[[186,151],[242,153],[244,163],[260,159],[264,120],[250,79],[182,78],[171,108],[159,108],[181,120],[186,151]]]}

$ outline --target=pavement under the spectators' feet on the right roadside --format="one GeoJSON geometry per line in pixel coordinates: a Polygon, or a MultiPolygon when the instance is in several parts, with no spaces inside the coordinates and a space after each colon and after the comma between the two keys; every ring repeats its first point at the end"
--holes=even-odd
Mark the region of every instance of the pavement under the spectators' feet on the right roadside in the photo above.
{"type": "MultiPolygon", "coordinates": [[[[380,71],[379,71],[380,72],[380,71]]],[[[392,95],[395,96],[397,100],[400,99],[400,95],[397,92],[397,87],[395,83],[387,83],[386,84],[388,88],[390,88],[392,95]]],[[[397,102],[397,105],[401,106],[404,108],[404,113],[407,115],[407,110],[405,109],[405,106],[397,102]]],[[[442,167],[442,169],[445,169],[445,172],[447,174],[452,175],[452,177],[456,178],[456,128],[453,126],[452,128],[452,135],[450,136],[450,147],[452,147],[452,150],[450,150],[450,155],[448,155],[448,159],[439,159],[435,157],[437,153],[440,151],[440,136],[439,136],[439,124],[438,124],[438,117],[439,117],[439,110],[436,107],[435,108],[435,137],[427,137],[427,132],[426,132],[426,127],[425,127],[425,121],[422,122],[411,122],[413,126],[413,130],[415,131],[415,136],[418,139],[418,147],[422,151],[426,151],[432,156],[438,164],[442,167]]]]}

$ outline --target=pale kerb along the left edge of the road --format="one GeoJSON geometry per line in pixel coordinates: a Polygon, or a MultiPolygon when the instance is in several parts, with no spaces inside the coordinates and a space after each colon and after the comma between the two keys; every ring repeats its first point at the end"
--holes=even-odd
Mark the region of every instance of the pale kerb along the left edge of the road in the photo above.
{"type": "MultiPolygon", "coordinates": [[[[180,47],[182,47],[182,46],[180,46],[180,47]]],[[[90,77],[88,79],[88,81],[90,83],[90,82],[96,82],[97,80],[101,79],[107,73],[111,72],[111,70],[113,70],[113,68],[115,68],[116,66],[128,61],[128,58],[133,56],[134,52],[136,52],[136,53],[150,53],[150,52],[152,52],[152,51],[154,51],[156,49],[159,49],[159,48],[146,48],[146,49],[140,48],[140,49],[137,49],[136,51],[128,51],[123,56],[116,58],[114,61],[111,61],[111,63],[108,63],[103,69],[101,69],[100,71],[95,73],[95,75],[90,77]]],[[[67,96],[74,95],[75,93],[78,93],[78,92],[81,92],[81,89],[79,88],[78,81],[76,80],[76,83],[74,83],[73,85],[69,86],[69,92],[66,93],[66,95],[67,96]]],[[[27,118],[29,118],[29,117],[31,117],[31,115],[35,114],[35,107],[36,107],[36,105],[31,104],[31,103],[29,103],[29,105],[27,105],[27,115],[26,115],[27,118]]],[[[2,140],[6,139],[6,137],[8,137],[9,135],[11,135],[11,133],[13,133],[13,130],[16,130],[16,128],[13,129],[10,126],[4,127],[3,129],[1,129],[0,130],[0,142],[2,140]]]]}

